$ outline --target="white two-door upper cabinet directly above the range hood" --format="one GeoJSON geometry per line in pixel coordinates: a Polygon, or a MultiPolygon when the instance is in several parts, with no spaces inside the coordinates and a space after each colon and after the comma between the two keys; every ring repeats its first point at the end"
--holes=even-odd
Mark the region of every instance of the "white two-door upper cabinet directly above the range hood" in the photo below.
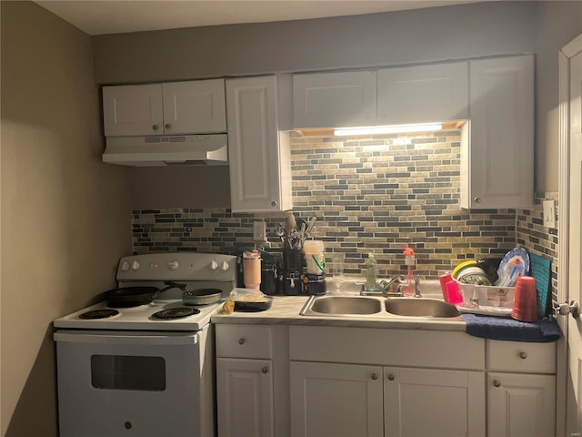
{"type": "Polygon", "coordinates": [[[224,79],[104,86],[105,137],[226,132],[224,79]]]}

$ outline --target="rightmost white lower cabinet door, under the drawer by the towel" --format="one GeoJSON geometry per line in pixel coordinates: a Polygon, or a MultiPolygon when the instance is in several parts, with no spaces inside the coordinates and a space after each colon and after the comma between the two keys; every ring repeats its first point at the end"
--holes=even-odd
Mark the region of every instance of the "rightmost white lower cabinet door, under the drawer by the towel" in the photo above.
{"type": "Polygon", "coordinates": [[[556,435],[556,377],[489,373],[488,425],[491,437],[556,435]]]}

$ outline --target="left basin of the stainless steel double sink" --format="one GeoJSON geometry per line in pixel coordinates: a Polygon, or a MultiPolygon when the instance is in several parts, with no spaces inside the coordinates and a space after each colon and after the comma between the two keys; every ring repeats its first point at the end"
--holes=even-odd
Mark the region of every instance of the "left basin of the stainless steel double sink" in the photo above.
{"type": "Polygon", "coordinates": [[[362,315],[383,311],[382,301],[358,296],[313,296],[307,300],[301,315],[362,315]]]}

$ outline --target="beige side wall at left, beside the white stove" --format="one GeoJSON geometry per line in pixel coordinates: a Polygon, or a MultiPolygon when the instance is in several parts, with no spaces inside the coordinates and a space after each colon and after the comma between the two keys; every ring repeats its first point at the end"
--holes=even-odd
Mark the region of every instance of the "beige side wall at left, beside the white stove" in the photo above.
{"type": "Polygon", "coordinates": [[[51,321],[115,285],[131,250],[126,168],[103,148],[91,38],[0,3],[2,435],[57,435],[51,321]]]}

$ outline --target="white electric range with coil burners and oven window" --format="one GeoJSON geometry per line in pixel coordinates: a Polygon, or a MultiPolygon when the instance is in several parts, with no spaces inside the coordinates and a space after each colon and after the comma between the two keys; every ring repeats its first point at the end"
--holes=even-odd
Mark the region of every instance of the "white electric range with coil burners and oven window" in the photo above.
{"type": "MultiPolygon", "coordinates": [[[[136,255],[119,261],[116,279],[119,288],[163,289],[171,280],[226,297],[236,287],[236,257],[136,255]]],[[[185,305],[175,288],[146,304],[102,301],[55,320],[61,437],[214,435],[209,321],[221,306],[185,305]]]]}

